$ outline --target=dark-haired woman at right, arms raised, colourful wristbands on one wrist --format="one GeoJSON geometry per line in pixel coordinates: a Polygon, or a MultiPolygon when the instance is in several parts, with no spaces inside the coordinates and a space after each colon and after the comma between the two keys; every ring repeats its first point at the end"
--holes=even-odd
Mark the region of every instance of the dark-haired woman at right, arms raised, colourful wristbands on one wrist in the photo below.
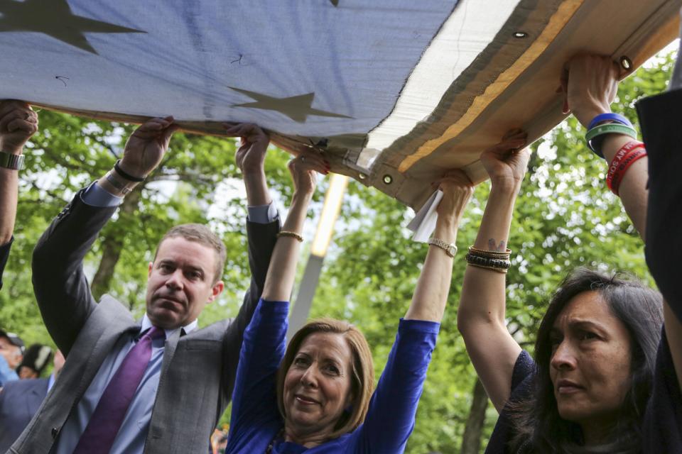
{"type": "MultiPolygon", "coordinates": [[[[607,57],[571,60],[562,79],[565,110],[588,127],[590,148],[610,162],[607,185],[644,238],[646,150],[629,121],[610,113],[618,75],[607,57]]],[[[682,453],[675,373],[681,333],[666,306],[661,336],[658,292],[579,268],[551,299],[534,359],[507,331],[507,238],[529,158],[511,138],[481,156],[492,187],[458,311],[467,352],[500,412],[486,453],[682,453]]]]}

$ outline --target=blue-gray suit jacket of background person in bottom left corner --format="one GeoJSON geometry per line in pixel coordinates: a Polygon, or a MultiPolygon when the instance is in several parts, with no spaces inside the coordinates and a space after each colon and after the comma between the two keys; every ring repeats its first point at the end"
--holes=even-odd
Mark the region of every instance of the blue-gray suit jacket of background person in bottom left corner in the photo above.
{"type": "Polygon", "coordinates": [[[48,394],[47,378],[15,380],[0,391],[0,453],[9,449],[48,394]]]}

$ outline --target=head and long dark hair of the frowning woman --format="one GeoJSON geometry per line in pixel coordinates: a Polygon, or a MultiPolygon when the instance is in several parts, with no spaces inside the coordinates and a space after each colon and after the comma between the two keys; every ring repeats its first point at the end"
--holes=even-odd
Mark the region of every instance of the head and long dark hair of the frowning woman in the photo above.
{"type": "Polygon", "coordinates": [[[587,268],[571,272],[538,328],[534,393],[510,402],[518,432],[511,444],[571,453],[585,452],[579,441],[614,438],[595,452],[630,452],[651,396],[662,324],[658,292],[632,278],[587,268]],[[600,333],[608,341],[600,342],[600,333]],[[559,350],[561,343],[575,345],[559,350]],[[580,372],[571,373],[578,363],[580,372]]]}

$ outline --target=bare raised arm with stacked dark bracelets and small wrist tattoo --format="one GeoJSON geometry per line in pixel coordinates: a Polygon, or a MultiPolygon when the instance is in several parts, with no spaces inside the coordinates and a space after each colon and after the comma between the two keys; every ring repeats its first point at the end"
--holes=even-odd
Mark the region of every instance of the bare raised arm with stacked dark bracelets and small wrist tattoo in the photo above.
{"type": "MultiPolygon", "coordinates": [[[[458,310],[458,329],[467,353],[497,411],[511,394],[511,375],[521,347],[507,331],[505,322],[506,273],[499,264],[485,257],[496,255],[504,260],[514,211],[516,194],[526,173],[529,154],[523,147],[526,135],[510,131],[501,143],[481,155],[481,162],[491,179],[490,195],[474,247],[481,251],[479,266],[467,266],[458,310]]],[[[507,259],[508,260],[508,259],[507,259]]]]}

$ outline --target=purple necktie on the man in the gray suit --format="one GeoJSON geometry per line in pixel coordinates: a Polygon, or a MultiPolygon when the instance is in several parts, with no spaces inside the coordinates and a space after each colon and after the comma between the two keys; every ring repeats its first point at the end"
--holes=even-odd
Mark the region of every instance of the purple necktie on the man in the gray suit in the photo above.
{"type": "Polygon", "coordinates": [[[74,454],[109,453],[151,359],[151,341],[163,336],[163,329],[152,326],[131,348],[99,398],[74,454]]]}

